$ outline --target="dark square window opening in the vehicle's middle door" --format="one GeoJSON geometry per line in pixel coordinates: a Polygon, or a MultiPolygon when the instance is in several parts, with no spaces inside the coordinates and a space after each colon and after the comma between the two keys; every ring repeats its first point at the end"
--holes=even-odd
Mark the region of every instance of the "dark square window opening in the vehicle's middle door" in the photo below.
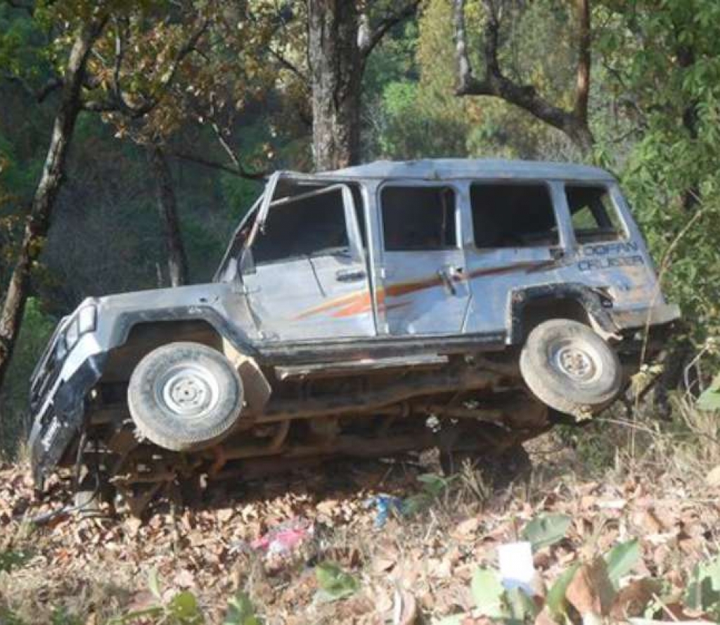
{"type": "Polygon", "coordinates": [[[451,187],[384,187],[382,230],[388,252],[457,247],[451,187]]]}

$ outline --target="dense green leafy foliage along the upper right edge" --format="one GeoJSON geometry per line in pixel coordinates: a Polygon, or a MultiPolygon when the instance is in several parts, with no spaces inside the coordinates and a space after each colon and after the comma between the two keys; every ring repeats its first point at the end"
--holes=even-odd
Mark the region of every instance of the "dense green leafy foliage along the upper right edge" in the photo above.
{"type": "MultiPolygon", "coordinates": [[[[690,337],[715,334],[720,287],[720,40],[714,0],[649,0],[598,9],[596,53],[613,99],[635,129],[622,179],[680,303],[690,337]],[[638,130],[639,129],[639,130],[638,130]]],[[[612,132],[608,133],[613,136],[612,132]]],[[[617,150],[616,150],[617,152],[617,150]]]]}

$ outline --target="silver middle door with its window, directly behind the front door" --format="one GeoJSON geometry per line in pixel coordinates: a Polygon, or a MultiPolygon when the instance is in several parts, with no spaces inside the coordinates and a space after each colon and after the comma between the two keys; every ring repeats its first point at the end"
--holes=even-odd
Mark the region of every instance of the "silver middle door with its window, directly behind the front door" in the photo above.
{"type": "Polygon", "coordinates": [[[390,334],[457,334],[470,291],[455,187],[379,188],[383,288],[378,301],[390,334]]]}

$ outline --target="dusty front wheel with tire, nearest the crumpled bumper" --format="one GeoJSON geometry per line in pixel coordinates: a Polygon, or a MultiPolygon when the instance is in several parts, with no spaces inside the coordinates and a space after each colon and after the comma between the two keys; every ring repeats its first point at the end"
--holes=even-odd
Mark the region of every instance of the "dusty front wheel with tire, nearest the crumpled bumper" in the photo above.
{"type": "Polygon", "coordinates": [[[188,451],[230,432],[243,407],[243,383],[217,350],[169,343],[135,367],[127,404],[140,435],[171,451],[188,451]]]}

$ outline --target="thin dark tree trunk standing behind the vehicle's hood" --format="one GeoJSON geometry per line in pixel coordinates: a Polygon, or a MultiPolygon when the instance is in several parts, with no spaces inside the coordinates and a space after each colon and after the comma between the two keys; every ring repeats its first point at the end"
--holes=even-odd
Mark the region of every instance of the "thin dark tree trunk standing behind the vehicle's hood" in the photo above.
{"type": "Polygon", "coordinates": [[[171,286],[181,286],[187,283],[187,257],[180,234],[180,221],[172,174],[161,146],[150,146],[148,154],[155,177],[158,213],[160,213],[165,232],[165,249],[170,284],[171,286]]]}

